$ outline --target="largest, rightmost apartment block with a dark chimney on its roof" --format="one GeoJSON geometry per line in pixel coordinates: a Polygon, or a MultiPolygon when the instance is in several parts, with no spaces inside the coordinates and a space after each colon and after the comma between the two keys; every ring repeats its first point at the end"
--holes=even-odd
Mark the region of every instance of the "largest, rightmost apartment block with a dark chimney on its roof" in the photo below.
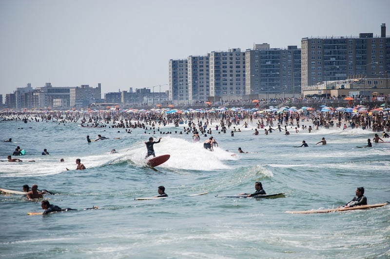
{"type": "Polygon", "coordinates": [[[390,71],[390,37],[386,24],[381,35],[302,38],[302,85],[323,81],[383,77],[390,71]]]}

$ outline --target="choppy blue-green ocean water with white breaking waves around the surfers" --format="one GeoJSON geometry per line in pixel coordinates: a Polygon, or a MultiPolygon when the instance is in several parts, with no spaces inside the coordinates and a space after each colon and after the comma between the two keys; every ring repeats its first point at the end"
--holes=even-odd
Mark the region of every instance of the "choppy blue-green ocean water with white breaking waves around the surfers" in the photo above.
{"type": "MultiPolygon", "coordinates": [[[[51,215],[40,201],[0,195],[0,258],[389,258],[390,206],[327,214],[285,211],[335,208],[364,186],[369,203],[390,200],[390,143],[373,143],[370,130],[338,128],[274,131],[255,136],[254,124],[242,132],[218,134],[214,152],[194,143],[192,134],[175,134],[186,124],[160,126],[163,132],[83,128],[78,122],[2,121],[0,187],[21,191],[23,184],[58,192],[46,196],[62,208],[51,215]],[[119,131],[119,132],[118,132],[119,131]],[[86,141],[86,135],[109,139],[86,141]],[[164,164],[146,166],[144,141],[162,137],[156,155],[164,164]],[[315,145],[325,137],[328,144],[315,145]],[[115,139],[120,138],[120,139],[115,139]],[[309,147],[294,148],[302,140],[309,147]],[[23,162],[9,163],[16,146],[23,162]],[[248,154],[239,154],[238,147],[248,154]],[[46,148],[50,156],[41,156],[46,148]],[[112,149],[118,153],[110,154],[112,149]],[[63,158],[65,161],[60,162],[63,158]],[[75,160],[87,170],[74,170],[75,160]],[[29,162],[35,160],[35,162],[29,162]],[[66,168],[71,169],[66,171],[66,168]],[[278,199],[216,198],[251,193],[261,181],[278,199]],[[164,185],[167,199],[154,197],[164,185]],[[202,196],[189,196],[209,192],[202,196]]],[[[241,123],[242,124],[242,123],[241,123]]],[[[307,122],[309,125],[309,122],[307,122]]],[[[209,135],[210,136],[210,135],[209,135]]]]}

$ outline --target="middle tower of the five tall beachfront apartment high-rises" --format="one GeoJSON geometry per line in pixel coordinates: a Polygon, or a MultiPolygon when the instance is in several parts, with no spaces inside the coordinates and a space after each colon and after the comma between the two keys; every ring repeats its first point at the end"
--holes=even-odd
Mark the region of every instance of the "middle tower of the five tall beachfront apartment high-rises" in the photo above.
{"type": "Polygon", "coordinates": [[[245,95],[245,52],[229,49],[210,53],[210,96],[214,100],[229,100],[245,95]]]}

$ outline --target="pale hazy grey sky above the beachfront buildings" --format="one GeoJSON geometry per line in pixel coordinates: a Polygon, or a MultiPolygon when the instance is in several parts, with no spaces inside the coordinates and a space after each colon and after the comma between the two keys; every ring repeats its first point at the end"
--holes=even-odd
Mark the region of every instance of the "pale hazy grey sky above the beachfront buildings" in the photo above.
{"type": "Polygon", "coordinates": [[[380,35],[382,23],[390,35],[389,10],[390,0],[0,0],[0,94],[29,82],[101,83],[102,97],[168,84],[170,59],[380,35]]]}

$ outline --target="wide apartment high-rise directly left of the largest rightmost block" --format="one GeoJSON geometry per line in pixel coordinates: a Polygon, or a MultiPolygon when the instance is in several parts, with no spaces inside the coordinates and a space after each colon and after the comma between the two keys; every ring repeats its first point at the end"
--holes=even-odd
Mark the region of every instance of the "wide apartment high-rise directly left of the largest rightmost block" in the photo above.
{"type": "Polygon", "coordinates": [[[254,44],[245,51],[245,93],[267,98],[301,92],[301,49],[254,44]],[[277,96],[278,95],[278,96],[277,96]]]}

